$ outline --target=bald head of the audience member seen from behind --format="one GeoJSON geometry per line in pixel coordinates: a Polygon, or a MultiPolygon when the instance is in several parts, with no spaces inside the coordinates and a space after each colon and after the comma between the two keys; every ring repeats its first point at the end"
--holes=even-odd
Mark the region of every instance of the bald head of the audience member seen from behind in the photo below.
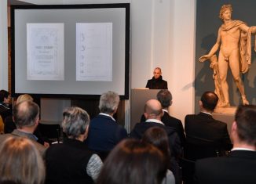
{"type": "Polygon", "coordinates": [[[146,119],[161,119],[162,106],[156,99],[149,99],[144,106],[144,116],[146,119]]]}

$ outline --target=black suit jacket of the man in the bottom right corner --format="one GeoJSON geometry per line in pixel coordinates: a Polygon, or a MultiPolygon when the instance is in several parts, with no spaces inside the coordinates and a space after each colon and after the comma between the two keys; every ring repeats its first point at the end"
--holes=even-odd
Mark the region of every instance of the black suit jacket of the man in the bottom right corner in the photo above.
{"type": "Polygon", "coordinates": [[[234,150],[228,157],[205,158],[196,161],[196,183],[253,184],[256,183],[256,151],[234,150]]]}

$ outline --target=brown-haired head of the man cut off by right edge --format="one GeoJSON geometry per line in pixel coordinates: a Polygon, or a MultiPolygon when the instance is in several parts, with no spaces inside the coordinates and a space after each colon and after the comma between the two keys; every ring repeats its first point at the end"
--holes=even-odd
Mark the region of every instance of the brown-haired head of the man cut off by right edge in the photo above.
{"type": "Polygon", "coordinates": [[[240,105],[236,110],[235,121],[239,139],[249,145],[256,146],[256,106],[240,105]]]}

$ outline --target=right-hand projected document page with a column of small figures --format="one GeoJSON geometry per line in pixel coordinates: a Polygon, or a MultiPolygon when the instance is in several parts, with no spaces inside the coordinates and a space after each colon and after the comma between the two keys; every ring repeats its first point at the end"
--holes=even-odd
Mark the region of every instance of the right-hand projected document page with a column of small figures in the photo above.
{"type": "Polygon", "coordinates": [[[76,80],[112,81],[112,23],[76,23],[76,80]]]}

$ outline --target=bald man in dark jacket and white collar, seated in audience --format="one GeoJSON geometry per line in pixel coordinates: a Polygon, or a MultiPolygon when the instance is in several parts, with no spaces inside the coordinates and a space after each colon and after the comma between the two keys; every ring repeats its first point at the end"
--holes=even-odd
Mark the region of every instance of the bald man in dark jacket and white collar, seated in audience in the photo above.
{"type": "Polygon", "coordinates": [[[132,132],[130,132],[130,137],[135,139],[141,139],[144,132],[148,128],[160,127],[163,128],[169,139],[170,148],[172,149],[172,154],[174,157],[181,157],[181,141],[177,135],[176,129],[172,127],[167,127],[161,121],[163,114],[161,103],[156,99],[149,99],[144,106],[144,116],[146,121],[135,124],[132,132]]]}

